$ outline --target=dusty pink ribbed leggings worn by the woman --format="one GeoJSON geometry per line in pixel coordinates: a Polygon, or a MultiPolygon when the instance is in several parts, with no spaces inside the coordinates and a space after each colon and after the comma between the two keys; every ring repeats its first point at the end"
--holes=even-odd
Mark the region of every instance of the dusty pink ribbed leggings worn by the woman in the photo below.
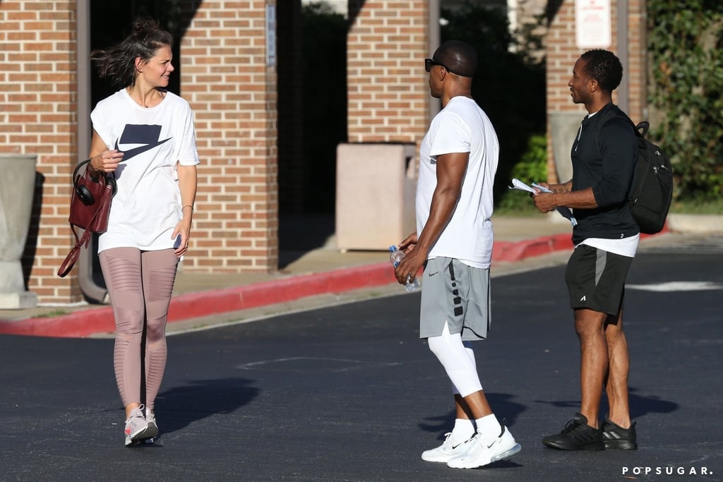
{"type": "Polygon", "coordinates": [[[173,249],[113,248],[100,253],[100,267],[116,319],[113,359],[124,407],[145,403],[146,408],[153,411],[166,369],[166,318],[178,262],[173,249]],[[142,370],[145,371],[145,400],[141,400],[142,370]]]}

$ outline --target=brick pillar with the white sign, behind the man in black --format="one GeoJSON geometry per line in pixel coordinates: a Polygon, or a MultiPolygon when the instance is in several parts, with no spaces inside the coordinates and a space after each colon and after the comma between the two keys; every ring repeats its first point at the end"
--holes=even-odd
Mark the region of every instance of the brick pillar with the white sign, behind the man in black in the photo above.
{"type": "MultiPolygon", "coordinates": [[[[617,45],[617,1],[611,1],[612,45],[608,50],[620,56],[617,45]]],[[[644,0],[628,0],[628,43],[622,48],[627,49],[628,69],[623,72],[628,82],[628,115],[633,121],[641,121],[646,117],[646,14],[644,0]]],[[[570,100],[568,81],[572,76],[573,66],[584,52],[576,46],[575,41],[575,0],[564,0],[552,20],[547,37],[547,112],[578,112],[580,119],[585,116],[585,108],[570,100]]],[[[612,100],[619,103],[617,91],[613,92],[612,100]]],[[[548,127],[549,133],[549,127],[548,127]]],[[[570,139],[572,142],[572,139],[570,139]]],[[[549,144],[549,143],[548,143],[549,144]]],[[[557,179],[555,159],[552,148],[548,148],[548,178],[552,182],[567,181],[557,179]]]]}

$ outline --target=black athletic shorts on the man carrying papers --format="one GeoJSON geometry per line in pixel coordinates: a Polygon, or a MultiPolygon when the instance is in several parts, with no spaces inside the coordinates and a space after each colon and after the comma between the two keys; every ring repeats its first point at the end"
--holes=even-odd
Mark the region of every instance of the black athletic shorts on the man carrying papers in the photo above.
{"type": "Polygon", "coordinates": [[[565,283],[570,308],[586,308],[617,316],[623,308],[625,277],[633,258],[581,244],[573,251],[565,283]]]}

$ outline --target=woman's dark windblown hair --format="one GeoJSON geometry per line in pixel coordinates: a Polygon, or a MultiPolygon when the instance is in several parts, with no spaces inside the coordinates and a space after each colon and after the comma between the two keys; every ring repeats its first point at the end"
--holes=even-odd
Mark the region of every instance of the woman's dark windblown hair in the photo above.
{"type": "Polygon", "coordinates": [[[108,78],[114,86],[134,85],[137,76],[135,59],[149,61],[163,46],[172,47],[171,34],[158,26],[152,19],[137,19],[133,22],[133,33],[116,46],[106,50],[94,50],[90,60],[98,67],[98,76],[108,78]]]}

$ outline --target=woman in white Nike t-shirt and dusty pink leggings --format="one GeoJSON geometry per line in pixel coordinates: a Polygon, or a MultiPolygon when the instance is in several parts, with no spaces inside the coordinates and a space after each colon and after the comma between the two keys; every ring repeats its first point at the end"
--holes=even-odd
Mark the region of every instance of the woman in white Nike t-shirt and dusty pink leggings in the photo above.
{"type": "Polygon", "coordinates": [[[99,76],[122,87],[90,113],[90,168],[113,173],[117,184],[98,253],[116,320],[127,446],[158,435],[153,410],[166,367],[166,317],[196,198],[193,113],[166,90],[172,43],[158,23],[136,20],[119,45],[90,54],[99,76]]]}

